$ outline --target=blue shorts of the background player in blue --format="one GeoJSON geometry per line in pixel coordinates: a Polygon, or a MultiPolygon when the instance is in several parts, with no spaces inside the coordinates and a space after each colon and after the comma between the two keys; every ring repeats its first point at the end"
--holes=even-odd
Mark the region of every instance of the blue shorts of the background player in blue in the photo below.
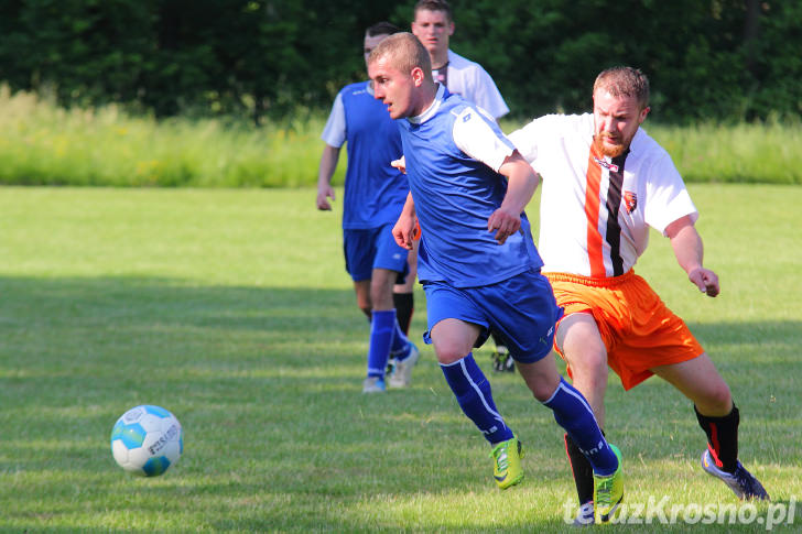
{"type": "Polygon", "coordinates": [[[400,282],[410,272],[407,263],[409,251],[402,249],[392,237],[392,224],[368,230],[343,230],[345,270],[354,282],[370,280],[373,269],[387,269],[399,273],[400,282]]]}

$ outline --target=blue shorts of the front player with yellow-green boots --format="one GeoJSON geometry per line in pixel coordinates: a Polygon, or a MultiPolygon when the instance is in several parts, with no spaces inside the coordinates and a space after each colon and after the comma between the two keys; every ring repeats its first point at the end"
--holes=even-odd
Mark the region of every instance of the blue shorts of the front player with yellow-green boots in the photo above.
{"type": "Polygon", "coordinates": [[[443,282],[425,282],[430,333],[443,319],[459,319],[481,327],[475,347],[498,334],[516,361],[533,363],[552,349],[554,324],[563,308],[554,299],[549,280],[540,271],[529,270],[492,285],[452,287],[443,282]]]}

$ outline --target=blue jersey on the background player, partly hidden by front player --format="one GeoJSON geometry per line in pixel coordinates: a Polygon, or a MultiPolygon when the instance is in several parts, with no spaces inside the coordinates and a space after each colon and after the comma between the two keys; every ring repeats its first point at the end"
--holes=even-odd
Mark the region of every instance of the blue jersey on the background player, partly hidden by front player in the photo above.
{"type": "MultiPolygon", "coordinates": [[[[337,95],[345,115],[348,152],[343,201],[343,228],[346,230],[394,224],[409,193],[407,176],[390,166],[390,162],[402,153],[398,126],[387,107],[373,98],[368,84],[348,85],[337,95]]],[[[337,101],[335,110],[336,106],[337,101]]],[[[333,144],[325,133],[324,140],[333,144]]]]}

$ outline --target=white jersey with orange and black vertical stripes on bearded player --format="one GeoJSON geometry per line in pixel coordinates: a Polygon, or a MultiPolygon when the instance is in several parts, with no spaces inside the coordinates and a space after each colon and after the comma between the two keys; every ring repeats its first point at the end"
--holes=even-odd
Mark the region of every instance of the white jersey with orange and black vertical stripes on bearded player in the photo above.
{"type": "Polygon", "coordinates": [[[698,218],[671,156],[638,129],[629,151],[603,156],[593,115],[550,115],[508,138],[543,178],[538,249],[544,272],[617,276],[676,219],[698,218]]]}

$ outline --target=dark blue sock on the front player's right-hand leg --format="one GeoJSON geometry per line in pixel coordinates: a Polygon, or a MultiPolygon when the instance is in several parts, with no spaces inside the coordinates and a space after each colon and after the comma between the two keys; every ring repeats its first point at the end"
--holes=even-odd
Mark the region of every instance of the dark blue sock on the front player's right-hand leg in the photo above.
{"type": "Polygon", "coordinates": [[[554,394],[543,403],[554,412],[554,419],[571,436],[588,459],[596,475],[616,472],[618,458],[613,453],[585,397],[562,377],[554,394]]]}

